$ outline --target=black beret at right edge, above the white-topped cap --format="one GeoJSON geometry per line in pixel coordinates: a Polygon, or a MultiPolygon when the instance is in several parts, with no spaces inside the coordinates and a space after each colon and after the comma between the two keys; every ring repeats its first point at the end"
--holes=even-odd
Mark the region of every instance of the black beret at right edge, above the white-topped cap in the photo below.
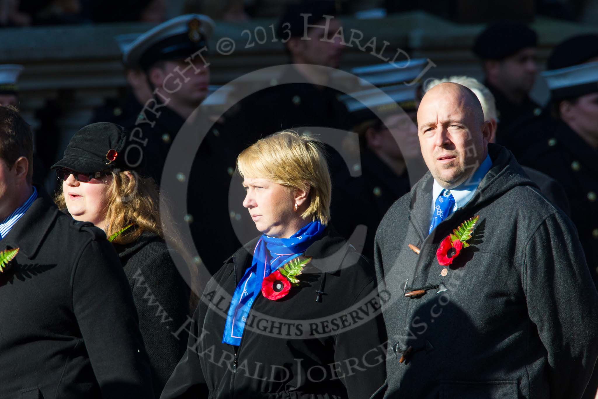
{"type": "Polygon", "coordinates": [[[554,48],[546,67],[548,70],[567,68],[594,57],[598,57],[598,34],[573,36],[554,48]]]}

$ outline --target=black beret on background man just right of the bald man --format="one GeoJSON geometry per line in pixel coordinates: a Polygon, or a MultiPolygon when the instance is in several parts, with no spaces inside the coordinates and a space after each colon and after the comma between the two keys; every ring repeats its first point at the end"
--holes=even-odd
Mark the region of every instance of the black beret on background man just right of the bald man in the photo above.
{"type": "Polygon", "coordinates": [[[489,26],[474,42],[472,51],[483,60],[502,60],[526,47],[536,47],[538,35],[526,25],[501,22],[489,26]]]}

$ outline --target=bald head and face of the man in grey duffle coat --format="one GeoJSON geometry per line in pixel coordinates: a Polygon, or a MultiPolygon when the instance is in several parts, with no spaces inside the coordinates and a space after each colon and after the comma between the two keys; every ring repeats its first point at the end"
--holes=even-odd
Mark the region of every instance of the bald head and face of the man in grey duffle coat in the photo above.
{"type": "Polygon", "coordinates": [[[489,123],[474,92],[457,83],[441,83],[422,98],[417,110],[422,156],[444,188],[465,182],[487,155],[489,123]]]}

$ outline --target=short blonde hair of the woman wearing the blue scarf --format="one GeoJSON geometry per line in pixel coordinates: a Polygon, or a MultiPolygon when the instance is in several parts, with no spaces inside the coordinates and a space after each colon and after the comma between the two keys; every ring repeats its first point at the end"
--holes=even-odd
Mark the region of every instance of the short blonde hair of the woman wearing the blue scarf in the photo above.
{"type": "Polygon", "coordinates": [[[309,135],[284,131],[260,139],[237,157],[241,176],[269,179],[292,189],[309,190],[301,215],[328,224],[332,183],[322,143],[309,135]]]}

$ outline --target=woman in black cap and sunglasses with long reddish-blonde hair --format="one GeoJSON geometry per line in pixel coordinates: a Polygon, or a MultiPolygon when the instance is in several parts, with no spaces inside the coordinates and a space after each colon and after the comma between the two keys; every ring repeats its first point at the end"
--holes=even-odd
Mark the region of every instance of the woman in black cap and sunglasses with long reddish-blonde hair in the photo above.
{"type": "Polygon", "coordinates": [[[190,291],[163,240],[154,181],[124,161],[128,136],[112,123],[83,127],[52,169],[62,181],[60,209],[106,236],[121,232],[112,243],[129,279],[158,397],[185,351],[186,337],[172,332],[187,319],[190,291]]]}

